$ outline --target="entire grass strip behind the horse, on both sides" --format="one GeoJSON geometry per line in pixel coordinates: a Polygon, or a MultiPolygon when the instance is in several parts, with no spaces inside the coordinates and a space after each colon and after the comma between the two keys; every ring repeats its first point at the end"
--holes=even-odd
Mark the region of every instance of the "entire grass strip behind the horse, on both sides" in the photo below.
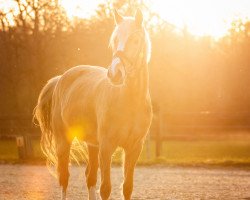
{"type": "MultiPolygon", "coordinates": [[[[34,158],[42,159],[39,141],[32,141],[34,158]]],[[[18,150],[15,140],[0,140],[0,160],[18,161],[18,150]]],[[[122,160],[122,150],[117,149],[113,156],[115,163],[122,160]]],[[[168,165],[246,165],[250,166],[249,140],[223,141],[165,141],[162,144],[162,155],[155,157],[154,142],[146,142],[139,164],[168,165]]]]}

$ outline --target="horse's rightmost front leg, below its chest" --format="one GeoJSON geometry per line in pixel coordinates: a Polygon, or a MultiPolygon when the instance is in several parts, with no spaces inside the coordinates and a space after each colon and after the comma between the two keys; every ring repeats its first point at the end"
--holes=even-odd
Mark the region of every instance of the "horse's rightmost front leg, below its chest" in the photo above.
{"type": "Polygon", "coordinates": [[[136,162],[141,154],[143,141],[132,147],[124,148],[124,182],[123,182],[123,196],[125,200],[130,200],[133,191],[133,177],[136,162]]]}

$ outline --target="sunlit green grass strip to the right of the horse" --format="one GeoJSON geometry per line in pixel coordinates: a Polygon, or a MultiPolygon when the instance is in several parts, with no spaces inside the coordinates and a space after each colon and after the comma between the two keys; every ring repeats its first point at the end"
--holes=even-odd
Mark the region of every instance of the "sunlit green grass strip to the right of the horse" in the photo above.
{"type": "MultiPolygon", "coordinates": [[[[155,150],[154,145],[149,145],[155,150]]],[[[152,152],[152,151],[150,151],[152,152]]],[[[145,160],[145,150],[141,161],[145,160]]],[[[162,155],[151,160],[167,164],[249,164],[250,141],[166,141],[162,155]]]]}

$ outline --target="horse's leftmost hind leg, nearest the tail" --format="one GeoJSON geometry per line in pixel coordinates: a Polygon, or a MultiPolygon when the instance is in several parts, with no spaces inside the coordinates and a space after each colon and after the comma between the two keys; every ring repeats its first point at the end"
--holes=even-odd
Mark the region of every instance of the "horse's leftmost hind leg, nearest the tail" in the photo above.
{"type": "Polygon", "coordinates": [[[62,200],[66,199],[66,190],[68,187],[69,180],[69,154],[70,154],[70,143],[67,139],[60,138],[57,144],[57,172],[59,178],[59,184],[62,187],[62,200]]]}

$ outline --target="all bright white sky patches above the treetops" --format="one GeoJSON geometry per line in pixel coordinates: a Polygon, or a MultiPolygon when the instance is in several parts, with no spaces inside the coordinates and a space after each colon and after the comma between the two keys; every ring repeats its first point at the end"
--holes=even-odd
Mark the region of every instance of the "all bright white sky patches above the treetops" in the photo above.
{"type": "MultiPolygon", "coordinates": [[[[0,0],[8,9],[12,0],[0,0]]],[[[59,0],[69,17],[89,18],[105,0],[59,0]]],[[[250,0],[144,0],[164,20],[177,28],[187,27],[197,36],[215,38],[227,33],[234,19],[250,19],[250,0]]]]}

